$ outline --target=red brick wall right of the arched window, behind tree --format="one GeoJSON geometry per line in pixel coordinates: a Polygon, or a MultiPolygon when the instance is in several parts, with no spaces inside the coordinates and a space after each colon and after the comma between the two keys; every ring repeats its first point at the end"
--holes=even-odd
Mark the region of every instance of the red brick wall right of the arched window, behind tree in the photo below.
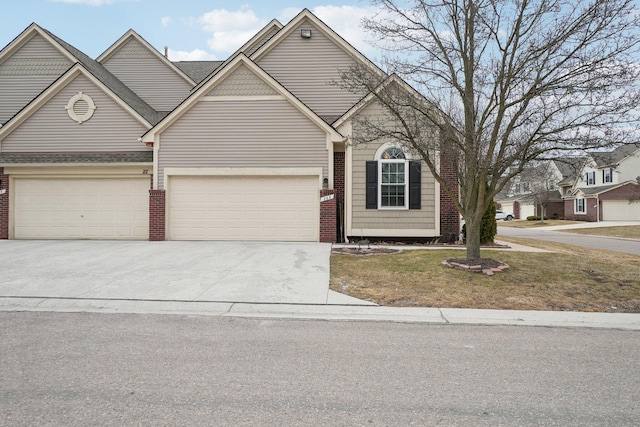
{"type": "MultiPolygon", "coordinates": [[[[442,144],[440,155],[440,177],[447,185],[454,189],[456,197],[460,195],[458,188],[458,177],[452,159],[453,153],[442,144]]],[[[451,243],[458,240],[460,235],[460,214],[455,203],[444,186],[440,186],[440,241],[451,243]]]]}

